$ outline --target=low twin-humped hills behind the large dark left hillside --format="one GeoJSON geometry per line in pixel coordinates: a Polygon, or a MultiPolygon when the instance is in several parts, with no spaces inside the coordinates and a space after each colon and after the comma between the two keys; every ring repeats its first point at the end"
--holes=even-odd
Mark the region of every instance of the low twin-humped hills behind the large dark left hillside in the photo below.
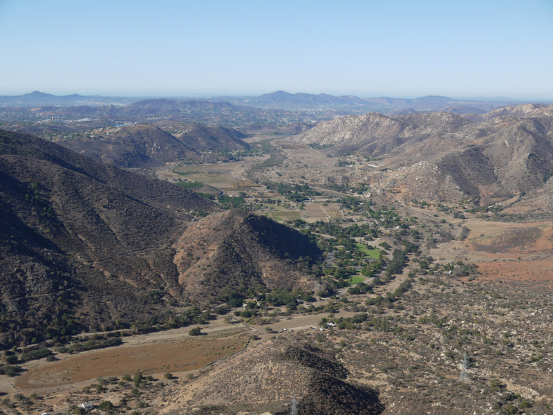
{"type": "Polygon", "coordinates": [[[245,135],[235,129],[202,124],[185,125],[177,136],[149,124],[134,124],[95,129],[57,143],[84,156],[127,168],[153,167],[171,161],[213,161],[214,153],[249,148],[241,138],[245,135]]]}

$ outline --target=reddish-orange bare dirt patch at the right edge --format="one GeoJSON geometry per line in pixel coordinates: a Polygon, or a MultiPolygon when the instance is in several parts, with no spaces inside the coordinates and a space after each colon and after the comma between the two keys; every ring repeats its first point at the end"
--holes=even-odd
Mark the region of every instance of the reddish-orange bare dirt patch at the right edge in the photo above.
{"type": "Polygon", "coordinates": [[[480,278],[516,281],[553,281],[553,259],[541,261],[497,261],[476,264],[480,278]]]}

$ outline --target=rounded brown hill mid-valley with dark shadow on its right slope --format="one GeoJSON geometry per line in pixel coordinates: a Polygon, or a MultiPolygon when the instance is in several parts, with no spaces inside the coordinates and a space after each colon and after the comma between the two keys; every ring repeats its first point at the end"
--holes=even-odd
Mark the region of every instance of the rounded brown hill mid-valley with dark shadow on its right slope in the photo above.
{"type": "Polygon", "coordinates": [[[191,225],[177,247],[178,282],[196,301],[214,301],[224,288],[322,288],[298,264],[319,257],[317,246],[265,216],[236,210],[212,214],[191,225]]]}

